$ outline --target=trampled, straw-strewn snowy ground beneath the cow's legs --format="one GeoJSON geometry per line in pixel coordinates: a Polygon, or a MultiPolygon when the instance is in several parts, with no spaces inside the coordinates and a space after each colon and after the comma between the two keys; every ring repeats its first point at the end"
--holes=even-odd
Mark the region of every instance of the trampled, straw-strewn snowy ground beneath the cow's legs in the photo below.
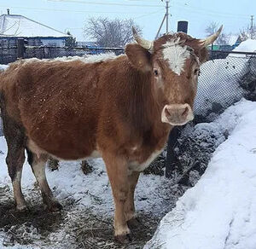
{"type": "MultiPolygon", "coordinates": [[[[22,189],[30,211],[16,213],[5,157],[7,146],[0,137],[0,248],[120,248],[113,241],[113,198],[102,159],[90,160],[93,172],[84,175],[79,161],[61,162],[58,171],[47,169],[49,186],[63,211],[44,211],[32,170],[26,162],[22,189]],[[26,246],[27,245],[27,246],[26,246]],[[3,247],[5,246],[5,247],[3,247]],[[6,247],[7,246],[7,247],[6,247]],[[102,247],[101,247],[102,246],[102,247]]],[[[136,206],[142,223],[134,231],[131,247],[149,240],[183,189],[165,177],[142,175],[136,189],[136,206]]]]}

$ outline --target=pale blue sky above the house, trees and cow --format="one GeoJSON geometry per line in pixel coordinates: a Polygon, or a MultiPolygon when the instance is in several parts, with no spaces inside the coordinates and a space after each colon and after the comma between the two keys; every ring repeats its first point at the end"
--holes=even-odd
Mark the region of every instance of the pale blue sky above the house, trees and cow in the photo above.
{"type": "MultiPolygon", "coordinates": [[[[166,12],[166,0],[0,0],[0,14],[22,14],[61,32],[70,31],[77,41],[84,36],[90,17],[134,19],[142,27],[143,37],[153,40],[166,12]]],[[[189,21],[189,35],[205,38],[206,27],[213,21],[224,25],[225,33],[237,33],[250,24],[255,0],[170,0],[169,30],[177,31],[178,20],[189,21]]],[[[166,25],[162,32],[165,32],[166,25]]]]}

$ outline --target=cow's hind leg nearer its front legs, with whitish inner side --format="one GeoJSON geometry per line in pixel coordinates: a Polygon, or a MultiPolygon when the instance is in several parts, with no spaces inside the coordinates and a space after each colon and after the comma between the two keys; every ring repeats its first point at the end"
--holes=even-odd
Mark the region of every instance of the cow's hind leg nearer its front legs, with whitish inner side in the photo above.
{"type": "Polygon", "coordinates": [[[48,208],[49,211],[61,210],[62,206],[55,200],[45,176],[45,165],[48,156],[46,154],[37,155],[32,153],[29,149],[26,149],[26,151],[28,163],[32,166],[32,171],[38,181],[45,207],[48,208]]]}

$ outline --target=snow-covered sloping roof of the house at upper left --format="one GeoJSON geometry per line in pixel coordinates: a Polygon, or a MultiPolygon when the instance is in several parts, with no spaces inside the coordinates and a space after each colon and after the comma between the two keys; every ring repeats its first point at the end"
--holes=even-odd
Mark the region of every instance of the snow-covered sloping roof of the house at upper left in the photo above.
{"type": "Polygon", "coordinates": [[[2,14],[0,15],[0,37],[64,38],[69,36],[20,14],[2,14]]]}

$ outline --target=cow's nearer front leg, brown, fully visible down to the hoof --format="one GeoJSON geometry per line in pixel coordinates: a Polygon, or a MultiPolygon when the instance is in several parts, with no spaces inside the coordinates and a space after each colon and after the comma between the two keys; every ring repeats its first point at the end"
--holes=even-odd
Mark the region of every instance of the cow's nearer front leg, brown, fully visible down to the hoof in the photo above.
{"type": "Polygon", "coordinates": [[[130,239],[130,229],[125,219],[125,201],[129,192],[127,162],[110,153],[103,153],[114,200],[114,235],[124,242],[130,239]]]}

